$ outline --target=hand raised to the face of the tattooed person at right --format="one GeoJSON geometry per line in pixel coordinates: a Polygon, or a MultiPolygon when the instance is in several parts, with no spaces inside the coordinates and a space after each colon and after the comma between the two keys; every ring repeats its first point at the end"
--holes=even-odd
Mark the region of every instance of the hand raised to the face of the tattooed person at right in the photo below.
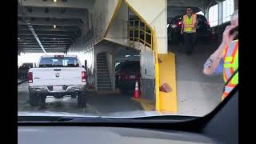
{"type": "Polygon", "coordinates": [[[230,35],[230,30],[233,30],[236,26],[226,26],[226,29],[222,35],[222,44],[223,46],[229,46],[230,42],[233,41],[234,37],[238,34],[238,32],[234,32],[234,34],[230,35]]]}

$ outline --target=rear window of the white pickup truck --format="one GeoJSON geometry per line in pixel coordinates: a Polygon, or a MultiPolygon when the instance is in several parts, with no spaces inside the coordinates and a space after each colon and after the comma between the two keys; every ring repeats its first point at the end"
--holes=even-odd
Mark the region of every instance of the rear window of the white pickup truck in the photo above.
{"type": "Polygon", "coordinates": [[[79,63],[74,57],[48,57],[41,58],[39,67],[79,67],[79,63]]]}

